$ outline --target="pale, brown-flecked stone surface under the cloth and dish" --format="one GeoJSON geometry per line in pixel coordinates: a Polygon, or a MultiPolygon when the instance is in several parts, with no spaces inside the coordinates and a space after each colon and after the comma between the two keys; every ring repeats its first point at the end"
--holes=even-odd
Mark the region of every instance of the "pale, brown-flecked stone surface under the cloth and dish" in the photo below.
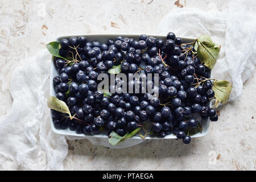
{"type": "MultiPolygon", "coordinates": [[[[87,33],[156,34],[158,22],[178,7],[172,0],[0,2],[0,117],[12,104],[10,78],[21,58],[34,56],[59,35],[87,33]]],[[[185,8],[225,11],[228,1],[180,1],[185,8]]],[[[185,18],[185,17],[184,17],[185,18]]],[[[171,31],[171,30],[170,30],[171,31]]],[[[255,170],[255,76],[238,101],[221,106],[209,134],[184,145],[180,140],[147,140],[110,149],[88,140],[69,141],[64,168],[255,170]]]]}

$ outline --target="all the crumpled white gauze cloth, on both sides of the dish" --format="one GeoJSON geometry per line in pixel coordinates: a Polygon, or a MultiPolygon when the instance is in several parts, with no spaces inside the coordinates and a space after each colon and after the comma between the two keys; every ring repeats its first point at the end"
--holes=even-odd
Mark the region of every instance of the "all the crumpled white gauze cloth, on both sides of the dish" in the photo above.
{"type": "MultiPolygon", "coordinates": [[[[232,1],[227,12],[177,9],[163,18],[158,33],[166,35],[172,31],[190,37],[208,34],[221,44],[213,77],[232,82],[230,100],[236,100],[256,63],[256,21],[250,14],[255,5],[255,1],[232,1]]],[[[47,98],[51,55],[44,49],[22,63],[15,69],[11,81],[13,105],[0,121],[0,168],[61,170],[68,144],[63,135],[52,132],[49,123],[47,98]]],[[[106,139],[90,139],[90,142],[112,147],[106,139]]],[[[115,147],[141,142],[126,140],[115,147]]]]}

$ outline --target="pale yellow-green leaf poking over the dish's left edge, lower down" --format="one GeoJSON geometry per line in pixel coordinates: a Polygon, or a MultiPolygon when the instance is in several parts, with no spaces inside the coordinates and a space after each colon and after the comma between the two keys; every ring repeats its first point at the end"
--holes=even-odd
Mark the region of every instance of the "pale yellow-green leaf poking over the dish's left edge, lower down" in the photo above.
{"type": "Polygon", "coordinates": [[[53,96],[49,96],[48,100],[47,100],[47,106],[50,108],[50,109],[53,109],[53,110],[56,110],[56,111],[59,111],[61,113],[66,113],[69,115],[69,117],[72,117],[71,116],[71,113],[68,109],[68,106],[67,104],[65,104],[65,102],[57,99],[56,97],[53,97],[53,96]]]}

